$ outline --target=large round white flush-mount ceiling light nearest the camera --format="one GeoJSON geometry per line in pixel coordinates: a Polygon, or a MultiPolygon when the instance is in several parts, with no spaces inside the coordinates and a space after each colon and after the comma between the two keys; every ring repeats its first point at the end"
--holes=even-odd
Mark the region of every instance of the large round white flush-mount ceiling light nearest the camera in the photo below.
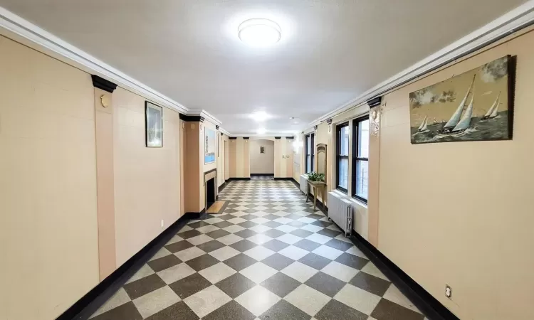
{"type": "Polygon", "coordinates": [[[239,38],[249,46],[265,47],[280,41],[282,30],[278,23],[264,19],[248,19],[237,28],[239,38]]]}

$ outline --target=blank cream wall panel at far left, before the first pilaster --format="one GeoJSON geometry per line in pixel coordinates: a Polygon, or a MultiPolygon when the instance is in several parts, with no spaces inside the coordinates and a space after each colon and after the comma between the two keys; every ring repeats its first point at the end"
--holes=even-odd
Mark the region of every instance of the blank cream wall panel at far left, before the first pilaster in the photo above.
{"type": "Polygon", "coordinates": [[[0,36],[0,319],[55,319],[99,281],[90,75],[0,36]]]}

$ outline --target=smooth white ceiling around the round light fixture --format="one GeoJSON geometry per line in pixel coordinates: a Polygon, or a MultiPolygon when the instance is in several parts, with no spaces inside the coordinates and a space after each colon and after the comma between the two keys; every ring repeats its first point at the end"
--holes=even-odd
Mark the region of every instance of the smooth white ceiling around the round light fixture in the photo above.
{"type": "Polygon", "coordinates": [[[231,134],[290,134],[523,0],[0,0],[231,134]],[[279,43],[250,48],[248,18],[279,43]],[[268,114],[265,122],[251,117],[268,114]],[[289,117],[295,117],[291,120],[289,117]]]}

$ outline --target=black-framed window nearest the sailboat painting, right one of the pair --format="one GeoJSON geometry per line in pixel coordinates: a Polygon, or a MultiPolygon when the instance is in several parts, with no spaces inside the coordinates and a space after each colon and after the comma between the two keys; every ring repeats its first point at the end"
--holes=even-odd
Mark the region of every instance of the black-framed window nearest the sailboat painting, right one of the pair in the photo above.
{"type": "Polygon", "coordinates": [[[369,117],[352,122],[352,196],[367,203],[369,188],[369,117]]]}

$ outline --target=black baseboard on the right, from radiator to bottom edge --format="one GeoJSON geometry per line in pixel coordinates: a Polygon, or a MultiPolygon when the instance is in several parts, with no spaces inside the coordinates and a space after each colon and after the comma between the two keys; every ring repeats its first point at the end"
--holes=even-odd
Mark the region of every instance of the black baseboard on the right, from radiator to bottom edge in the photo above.
{"type": "Polygon", "coordinates": [[[361,235],[354,232],[351,240],[428,319],[459,320],[446,306],[432,297],[429,292],[389,260],[374,245],[362,238],[361,235]]]}

